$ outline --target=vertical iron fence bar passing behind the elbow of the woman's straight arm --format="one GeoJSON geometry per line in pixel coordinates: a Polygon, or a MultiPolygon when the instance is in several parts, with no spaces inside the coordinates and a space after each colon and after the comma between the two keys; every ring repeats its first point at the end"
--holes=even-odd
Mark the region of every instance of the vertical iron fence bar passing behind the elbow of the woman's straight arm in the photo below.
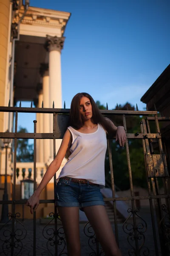
{"type": "MultiPolygon", "coordinates": [[[[57,114],[53,114],[53,132],[56,132],[57,125],[57,114]]],[[[53,139],[53,152],[54,158],[56,156],[56,139],[53,139]]],[[[57,245],[57,206],[55,205],[55,187],[56,187],[56,173],[54,174],[54,234],[55,234],[55,256],[58,255],[58,245],[57,245]]]]}

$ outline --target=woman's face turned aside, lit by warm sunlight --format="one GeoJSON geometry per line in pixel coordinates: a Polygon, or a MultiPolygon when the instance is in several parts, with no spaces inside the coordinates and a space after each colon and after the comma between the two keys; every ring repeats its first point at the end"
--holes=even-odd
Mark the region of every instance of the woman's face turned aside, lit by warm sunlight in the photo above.
{"type": "Polygon", "coordinates": [[[83,96],[80,100],[79,110],[82,115],[83,121],[87,121],[91,119],[93,113],[92,113],[92,105],[90,102],[90,99],[83,96]]]}

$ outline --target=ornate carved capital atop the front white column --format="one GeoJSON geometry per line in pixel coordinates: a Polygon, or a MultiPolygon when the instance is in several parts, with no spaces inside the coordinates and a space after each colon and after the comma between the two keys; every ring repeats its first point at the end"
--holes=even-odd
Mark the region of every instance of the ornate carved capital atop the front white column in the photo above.
{"type": "Polygon", "coordinates": [[[63,46],[64,46],[65,37],[57,37],[47,35],[46,36],[46,43],[45,43],[45,49],[50,51],[57,50],[61,52],[63,46]]]}

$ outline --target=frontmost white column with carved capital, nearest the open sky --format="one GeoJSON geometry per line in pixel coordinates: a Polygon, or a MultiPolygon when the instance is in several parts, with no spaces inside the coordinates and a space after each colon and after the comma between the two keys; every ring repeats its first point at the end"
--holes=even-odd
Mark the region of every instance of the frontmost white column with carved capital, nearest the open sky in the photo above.
{"type": "MultiPolygon", "coordinates": [[[[63,48],[65,38],[47,35],[46,47],[49,51],[49,89],[50,89],[50,107],[62,108],[62,90],[61,90],[61,49],[63,48]]],[[[53,132],[53,116],[50,116],[50,132],[53,132]]],[[[56,153],[61,145],[61,140],[56,140],[56,153]]],[[[50,156],[53,159],[53,140],[50,141],[50,156]]]]}

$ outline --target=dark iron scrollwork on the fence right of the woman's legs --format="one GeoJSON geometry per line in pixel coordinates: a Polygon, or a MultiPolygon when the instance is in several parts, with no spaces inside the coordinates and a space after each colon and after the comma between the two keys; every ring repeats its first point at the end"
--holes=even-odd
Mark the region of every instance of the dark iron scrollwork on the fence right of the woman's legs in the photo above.
{"type": "Polygon", "coordinates": [[[130,244],[131,248],[128,250],[128,255],[130,256],[137,256],[137,255],[143,255],[148,256],[150,254],[150,251],[147,247],[144,246],[145,242],[145,236],[144,233],[147,230],[147,223],[144,221],[141,216],[137,214],[139,212],[139,209],[136,208],[134,211],[132,209],[128,209],[127,212],[130,213],[129,217],[125,220],[123,224],[123,231],[128,235],[127,241],[130,244]],[[141,220],[136,227],[132,223],[128,223],[128,220],[133,215],[133,213],[141,220]],[[136,232],[135,232],[136,231],[136,232]],[[139,254],[136,252],[135,242],[137,240],[137,243],[139,244],[139,254]]]}

